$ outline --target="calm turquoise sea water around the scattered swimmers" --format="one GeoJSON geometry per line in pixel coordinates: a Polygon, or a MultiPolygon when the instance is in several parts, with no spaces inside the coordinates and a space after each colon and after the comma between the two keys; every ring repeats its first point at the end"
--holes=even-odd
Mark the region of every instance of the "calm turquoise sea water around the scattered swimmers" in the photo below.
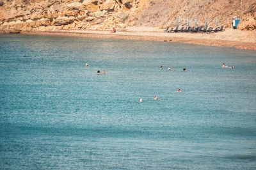
{"type": "Polygon", "coordinates": [[[255,51],[0,35],[0,73],[0,169],[256,167],[255,51]]]}

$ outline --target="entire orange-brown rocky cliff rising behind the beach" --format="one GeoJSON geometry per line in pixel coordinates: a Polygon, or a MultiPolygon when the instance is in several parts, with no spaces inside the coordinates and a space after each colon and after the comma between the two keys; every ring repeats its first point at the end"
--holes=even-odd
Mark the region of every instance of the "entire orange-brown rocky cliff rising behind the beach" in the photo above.
{"type": "Polygon", "coordinates": [[[0,30],[98,29],[127,26],[163,28],[189,24],[256,29],[253,0],[0,0],[0,30]]]}

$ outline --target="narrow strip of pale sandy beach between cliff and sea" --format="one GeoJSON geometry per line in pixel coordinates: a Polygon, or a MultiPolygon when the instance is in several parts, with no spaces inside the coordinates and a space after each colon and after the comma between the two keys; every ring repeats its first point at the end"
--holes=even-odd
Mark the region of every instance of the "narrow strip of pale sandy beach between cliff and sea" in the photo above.
{"type": "Polygon", "coordinates": [[[218,33],[164,33],[157,27],[127,27],[111,31],[97,30],[47,30],[22,31],[29,35],[82,36],[89,38],[120,38],[127,40],[157,41],[168,43],[191,43],[206,46],[235,47],[236,49],[256,50],[256,31],[225,29],[218,33]]]}

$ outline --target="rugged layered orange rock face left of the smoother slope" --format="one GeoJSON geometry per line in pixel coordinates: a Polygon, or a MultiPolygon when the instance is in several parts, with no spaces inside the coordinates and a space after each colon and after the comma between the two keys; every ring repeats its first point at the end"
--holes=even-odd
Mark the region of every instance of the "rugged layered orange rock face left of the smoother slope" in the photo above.
{"type": "Polygon", "coordinates": [[[136,0],[3,0],[0,30],[112,29],[125,27],[136,0]]]}

